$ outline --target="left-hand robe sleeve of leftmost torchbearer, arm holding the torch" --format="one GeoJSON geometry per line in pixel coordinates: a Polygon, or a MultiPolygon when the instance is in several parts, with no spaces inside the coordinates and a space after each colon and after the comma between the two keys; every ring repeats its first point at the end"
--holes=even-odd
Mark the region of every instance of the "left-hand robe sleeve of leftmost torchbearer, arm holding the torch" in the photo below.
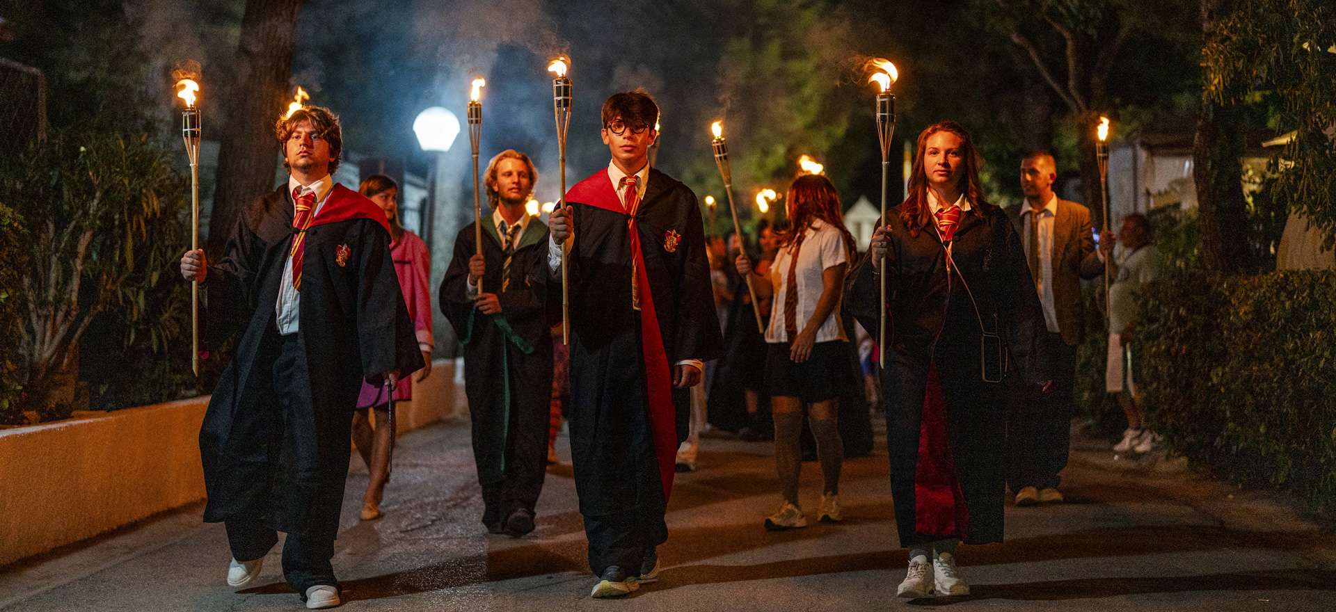
{"type": "MultiPolygon", "coordinates": [[[[246,208],[227,237],[223,254],[208,266],[202,289],[207,295],[204,345],[218,349],[246,327],[258,305],[258,269],[265,246],[251,230],[246,208]]],[[[271,305],[273,306],[273,305],[271,305]]]]}

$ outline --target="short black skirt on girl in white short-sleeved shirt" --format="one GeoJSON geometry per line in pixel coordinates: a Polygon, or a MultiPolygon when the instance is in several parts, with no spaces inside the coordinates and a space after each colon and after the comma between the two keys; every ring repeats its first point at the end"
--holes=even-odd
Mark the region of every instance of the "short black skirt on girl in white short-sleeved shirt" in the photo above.
{"type": "Polygon", "coordinates": [[[840,396],[850,379],[848,342],[832,339],[812,345],[807,361],[794,363],[787,342],[771,342],[766,353],[764,392],[771,397],[796,397],[824,402],[840,396]]]}

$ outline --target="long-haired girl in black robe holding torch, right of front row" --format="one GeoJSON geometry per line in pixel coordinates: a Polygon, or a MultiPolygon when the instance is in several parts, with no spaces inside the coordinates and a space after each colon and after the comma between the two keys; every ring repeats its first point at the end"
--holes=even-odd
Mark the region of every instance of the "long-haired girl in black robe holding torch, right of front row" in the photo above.
{"type": "Polygon", "coordinates": [[[1025,250],[985,202],[981,166],[959,124],[923,130],[908,198],[872,235],[844,295],[871,330],[887,285],[880,382],[895,521],[910,549],[900,597],[969,595],[957,545],[1002,541],[1007,404],[1022,381],[1047,388],[1031,367],[1043,315],[1025,250]]]}

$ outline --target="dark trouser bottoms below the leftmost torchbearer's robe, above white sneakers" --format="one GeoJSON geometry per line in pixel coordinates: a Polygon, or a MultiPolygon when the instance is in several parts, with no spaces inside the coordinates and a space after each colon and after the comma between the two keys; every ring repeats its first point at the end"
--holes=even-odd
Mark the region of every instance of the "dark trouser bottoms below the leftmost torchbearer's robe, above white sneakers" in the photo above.
{"type": "MultiPolygon", "coordinates": [[[[254,561],[278,544],[278,532],[265,526],[262,521],[230,520],[227,544],[238,561],[254,561]]],[[[334,539],[306,537],[289,533],[283,543],[283,577],[294,591],[306,596],[306,589],[318,584],[338,587],[334,580],[334,539]]]]}

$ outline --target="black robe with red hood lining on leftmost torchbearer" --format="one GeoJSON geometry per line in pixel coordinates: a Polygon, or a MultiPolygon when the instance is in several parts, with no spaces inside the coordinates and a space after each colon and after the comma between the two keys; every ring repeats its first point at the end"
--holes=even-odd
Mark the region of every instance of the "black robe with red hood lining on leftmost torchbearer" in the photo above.
{"type": "Polygon", "coordinates": [[[286,188],[244,208],[219,261],[208,266],[210,331],[236,351],[199,432],[208,502],[204,521],[259,520],[313,537],[338,533],[353,409],[362,382],[422,367],[403,305],[385,212],[335,184],[306,231],[298,341],[306,353],[310,413],[283,424],[271,397],[279,283],[291,247],[286,188]]]}

